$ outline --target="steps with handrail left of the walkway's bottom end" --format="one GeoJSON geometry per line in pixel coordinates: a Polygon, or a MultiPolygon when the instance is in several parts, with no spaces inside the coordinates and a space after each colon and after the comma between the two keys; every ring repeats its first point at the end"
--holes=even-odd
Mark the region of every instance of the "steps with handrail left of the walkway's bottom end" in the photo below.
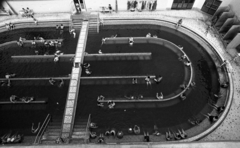
{"type": "Polygon", "coordinates": [[[53,144],[56,139],[60,136],[62,130],[63,116],[53,116],[52,120],[49,122],[43,136],[41,143],[43,144],[53,144]]]}

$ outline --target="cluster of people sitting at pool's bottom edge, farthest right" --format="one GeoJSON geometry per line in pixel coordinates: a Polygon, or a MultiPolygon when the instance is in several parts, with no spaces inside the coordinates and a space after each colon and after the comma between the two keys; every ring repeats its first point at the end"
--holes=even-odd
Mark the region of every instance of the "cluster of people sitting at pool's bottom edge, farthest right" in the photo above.
{"type": "Polygon", "coordinates": [[[168,131],[165,134],[166,136],[166,140],[170,141],[170,140],[181,140],[181,139],[185,139],[187,138],[187,133],[183,130],[183,129],[178,129],[176,132],[170,131],[168,129],[168,131]]]}

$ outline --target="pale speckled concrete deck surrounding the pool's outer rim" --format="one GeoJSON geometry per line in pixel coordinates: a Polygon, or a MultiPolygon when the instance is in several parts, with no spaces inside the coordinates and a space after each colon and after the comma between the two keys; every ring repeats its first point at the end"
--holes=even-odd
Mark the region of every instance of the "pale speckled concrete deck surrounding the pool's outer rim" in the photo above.
{"type": "MultiPolygon", "coordinates": [[[[35,15],[36,19],[39,21],[47,21],[47,20],[68,20],[70,19],[70,14],[36,14],[35,15]]],[[[226,140],[240,140],[240,100],[238,97],[240,96],[240,58],[237,58],[237,60],[233,61],[232,59],[237,55],[236,51],[231,50],[230,52],[226,52],[221,39],[218,34],[216,34],[214,31],[210,31],[207,36],[205,35],[205,31],[207,28],[207,25],[205,23],[205,20],[208,19],[208,16],[205,15],[204,13],[200,11],[195,11],[195,10],[181,10],[181,11],[175,11],[175,10],[170,10],[170,11],[156,11],[156,12],[119,12],[117,14],[112,13],[112,14],[100,14],[100,18],[119,18],[119,19],[124,19],[124,18],[132,18],[132,19],[137,19],[137,18],[158,18],[158,19],[166,19],[166,20],[171,20],[177,22],[179,18],[183,18],[183,25],[188,26],[191,30],[194,30],[197,32],[200,36],[205,37],[205,39],[208,40],[214,47],[218,50],[221,55],[230,61],[230,64],[232,66],[232,69],[230,69],[233,81],[234,81],[234,95],[233,95],[233,103],[231,106],[231,109],[225,118],[225,120],[222,122],[222,124],[216,128],[212,133],[210,133],[208,136],[202,138],[200,141],[226,141],[226,140]],[[131,15],[129,15],[131,14],[131,15]],[[184,17],[182,17],[184,16],[184,17]]],[[[0,17],[0,20],[3,24],[9,23],[10,20],[11,22],[14,22],[14,20],[26,20],[30,21],[32,20],[31,18],[22,18],[18,16],[10,16],[10,17],[0,17]]],[[[2,24],[1,23],[1,24],[2,24]]],[[[0,25],[1,25],[0,24],[0,25]]],[[[228,143],[228,142],[227,142],[228,143]]],[[[224,147],[225,143],[194,143],[193,145],[191,144],[179,144],[179,145],[174,145],[174,147],[224,147]]],[[[228,147],[233,146],[237,147],[240,144],[239,143],[228,143],[228,147]],[[236,144],[236,145],[235,145],[236,144]]],[[[71,146],[71,145],[69,145],[71,146]]],[[[107,147],[106,145],[101,145],[102,147],[107,147]]],[[[99,147],[101,147],[99,146],[99,147]]],[[[226,146],[226,145],[225,145],[226,146]]],[[[34,147],[34,146],[33,146],[34,147]]],[[[49,146],[48,146],[49,147],[49,146]]],[[[54,146],[53,146],[54,147],[54,146]]],[[[63,146],[63,147],[68,147],[68,146],[63,146]]],[[[83,146],[84,147],[84,146],[83,146]]],[[[89,147],[96,147],[96,145],[89,145],[89,147]]],[[[109,145],[109,147],[113,147],[113,145],[109,145]]],[[[114,147],[138,147],[137,145],[130,145],[130,146],[114,146],[114,147]]],[[[156,146],[156,145],[141,145],[140,147],[172,147],[172,144],[164,144],[161,146],[156,146]]]]}

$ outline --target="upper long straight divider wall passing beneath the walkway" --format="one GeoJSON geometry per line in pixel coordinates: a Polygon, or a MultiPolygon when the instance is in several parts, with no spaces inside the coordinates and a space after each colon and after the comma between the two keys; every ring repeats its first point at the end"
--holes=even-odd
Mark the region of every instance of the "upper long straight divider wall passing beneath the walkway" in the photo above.
{"type": "MultiPolygon", "coordinates": [[[[11,56],[14,63],[25,62],[53,62],[54,55],[19,55],[11,56]]],[[[60,62],[72,62],[75,54],[59,55],[60,62]]],[[[107,53],[107,54],[86,54],[84,61],[115,61],[115,60],[151,60],[152,53],[107,53]]]]}

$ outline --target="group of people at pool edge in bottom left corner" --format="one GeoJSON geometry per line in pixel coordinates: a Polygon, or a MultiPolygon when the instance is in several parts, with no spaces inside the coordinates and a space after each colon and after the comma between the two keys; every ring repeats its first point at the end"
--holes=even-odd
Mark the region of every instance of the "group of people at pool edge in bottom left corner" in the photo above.
{"type": "Polygon", "coordinates": [[[12,131],[3,135],[0,139],[1,144],[14,144],[21,143],[23,141],[23,135],[16,132],[12,134],[12,131]]]}

